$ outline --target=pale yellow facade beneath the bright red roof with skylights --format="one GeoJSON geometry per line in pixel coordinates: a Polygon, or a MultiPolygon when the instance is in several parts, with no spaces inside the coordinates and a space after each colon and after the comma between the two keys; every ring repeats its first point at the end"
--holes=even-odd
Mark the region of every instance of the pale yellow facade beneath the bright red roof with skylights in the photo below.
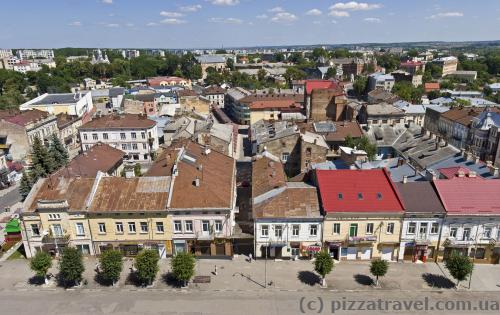
{"type": "Polygon", "coordinates": [[[401,216],[327,216],[323,240],[339,260],[397,260],[401,216]]]}

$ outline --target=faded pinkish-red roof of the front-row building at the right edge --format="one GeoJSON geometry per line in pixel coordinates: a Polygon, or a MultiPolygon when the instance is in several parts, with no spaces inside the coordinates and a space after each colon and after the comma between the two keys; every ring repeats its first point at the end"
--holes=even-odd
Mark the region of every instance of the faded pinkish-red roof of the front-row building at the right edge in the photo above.
{"type": "Polygon", "coordinates": [[[435,180],[434,186],[448,214],[500,215],[500,180],[462,177],[435,180]]]}

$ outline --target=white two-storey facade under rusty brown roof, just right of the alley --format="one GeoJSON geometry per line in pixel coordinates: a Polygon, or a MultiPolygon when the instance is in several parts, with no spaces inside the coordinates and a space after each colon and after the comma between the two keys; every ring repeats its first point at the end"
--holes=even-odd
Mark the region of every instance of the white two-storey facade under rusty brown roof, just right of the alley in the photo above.
{"type": "Polygon", "coordinates": [[[293,258],[321,248],[322,219],[257,219],[254,224],[255,257],[293,258]]]}

